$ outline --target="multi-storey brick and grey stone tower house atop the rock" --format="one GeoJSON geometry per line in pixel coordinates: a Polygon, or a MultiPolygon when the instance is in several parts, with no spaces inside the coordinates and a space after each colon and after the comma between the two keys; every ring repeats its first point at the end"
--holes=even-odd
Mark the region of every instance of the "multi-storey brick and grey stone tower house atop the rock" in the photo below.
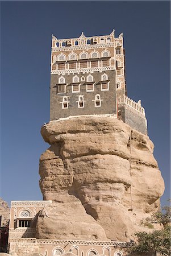
{"type": "Polygon", "coordinates": [[[57,39],[52,36],[51,121],[78,115],[122,119],[147,133],[141,103],[127,97],[123,34],[57,39]]]}

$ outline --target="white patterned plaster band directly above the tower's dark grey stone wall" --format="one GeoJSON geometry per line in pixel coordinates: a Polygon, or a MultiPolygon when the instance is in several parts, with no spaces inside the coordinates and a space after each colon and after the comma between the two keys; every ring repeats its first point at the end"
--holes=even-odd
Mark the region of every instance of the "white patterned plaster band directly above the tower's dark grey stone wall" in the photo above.
{"type": "MultiPolygon", "coordinates": [[[[115,66],[110,67],[97,67],[97,68],[81,68],[81,69],[62,69],[62,70],[52,70],[51,75],[53,74],[62,74],[67,73],[83,73],[83,72],[94,72],[94,71],[106,71],[106,70],[115,70],[115,66]]],[[[122,77],[121,75],[120,77],[122,77]]],[[[119,76],[118,76],[119,77],[119,76]]]]}

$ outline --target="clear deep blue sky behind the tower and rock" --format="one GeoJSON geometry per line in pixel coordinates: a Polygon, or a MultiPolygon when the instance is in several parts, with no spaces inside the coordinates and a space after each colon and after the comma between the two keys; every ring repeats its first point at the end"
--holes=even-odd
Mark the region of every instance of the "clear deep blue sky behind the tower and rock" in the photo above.
{"type": "Polygon", "coordinates": [[[1,197],[41,200],[39,158],[48,148],[51,37],[124,35],[128,97],[141,99],[170,197],[170,2],[1,2],[1,197]]]}

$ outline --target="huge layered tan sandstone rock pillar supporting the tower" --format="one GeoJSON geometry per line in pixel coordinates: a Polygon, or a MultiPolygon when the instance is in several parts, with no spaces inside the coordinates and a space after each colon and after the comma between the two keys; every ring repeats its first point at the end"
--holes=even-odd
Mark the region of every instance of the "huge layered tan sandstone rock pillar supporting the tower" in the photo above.
{"type": "Polygon", "coordinates": [[[140,220],[164,192],[146,135],[107,117],[50,122],[41,134],[51,147],[40,157],[40,188],[53,204],[39,214],[37,238],[128,241],[144,230],[140,220]]]}

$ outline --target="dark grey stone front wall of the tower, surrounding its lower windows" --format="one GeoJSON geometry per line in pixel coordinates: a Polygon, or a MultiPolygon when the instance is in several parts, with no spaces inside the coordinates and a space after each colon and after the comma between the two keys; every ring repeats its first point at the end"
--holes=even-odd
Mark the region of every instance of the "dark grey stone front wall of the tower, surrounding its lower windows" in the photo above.
{"type": "Polygon", "coordinates": [[[93,76],[94,91],[86,92],[86,77],[89,74],[77,74],[79,81],[81,77],[85,77],[85,81],[81,82],[80,93],[72,93],[72,79],[74,75],[66,74],[65,82],[66,93],[57,94],[57,88],[55,87],[59,80],[59,75],[51,75],[51,120],[57,120],[59,118],[66,118],[71,115],[94,115],[94,114],[116,114],[116,85],[115,85],[115,71],[105,71],[105,72],[94,72],[91,75],[93,76]],[[109,90],[101,91],[101,84],[98,84],[101,81],[101,76],[103,73],[106,73],[109,83],[109,90]],[[101,107],[94,106],[95,95],[100,94],[101,96],[101,107]],[[85,107],[78,108],[78,96],[84,96],[85,107]],[[69,96],[69,107],[68,109],[62,109],[62,97],[69,96]]]}

